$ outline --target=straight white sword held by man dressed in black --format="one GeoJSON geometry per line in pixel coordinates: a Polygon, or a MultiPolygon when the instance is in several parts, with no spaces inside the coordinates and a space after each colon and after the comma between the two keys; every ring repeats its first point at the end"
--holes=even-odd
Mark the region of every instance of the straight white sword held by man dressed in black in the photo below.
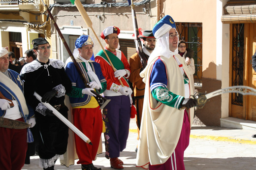
{"type": "MultiPolygon", "coordinates": [[[[34,96],[36,97],[37,100],[39,100],[41,102],[42,97],[37,94],[36,92],[34,92],[34,96]]],[[[68,121],[61,113],[59,113],[54,107],[52,107],[52,105],[50,105],[49,103],[43,103],[42,104],[44,106],[46,106],[49,110],[53,111],[53,113],[61,120],[63,121],[63,123],[65,125],[67,125],[67,127],[69,127],[76,135],[78,135],[84,142],[87,142],[91,145],[92,142],[89,140],[89,138],[87,136],[85,136],[85,134],[83,134],[79,129],[77,129],[77,127],[75,127],[70,121],[68,121]]]]}

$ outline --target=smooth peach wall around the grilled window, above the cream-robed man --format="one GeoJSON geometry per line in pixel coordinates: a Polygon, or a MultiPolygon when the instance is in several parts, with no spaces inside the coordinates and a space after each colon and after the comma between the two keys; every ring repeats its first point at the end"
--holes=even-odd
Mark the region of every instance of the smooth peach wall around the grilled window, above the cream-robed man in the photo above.
{"type": "Polygon", "coordinates": [[[165,0],[161,5],[176,22],[202,23],[203,77],[216,79],[216,0],[165,0]]]}

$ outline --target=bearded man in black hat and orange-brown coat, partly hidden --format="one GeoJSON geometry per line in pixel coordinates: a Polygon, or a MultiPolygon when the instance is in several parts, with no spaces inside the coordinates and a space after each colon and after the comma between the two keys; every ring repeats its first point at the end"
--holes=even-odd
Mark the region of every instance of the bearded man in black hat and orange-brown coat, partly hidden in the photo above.
{"type": "MultiPolygon", "coordinates": [[[[153,52],[156,46],[156,38],[154,37],[152,30],[145,30],[142,34],[138,36],[143,43],[143,53],[146,57],[146,61],[148,61],[149,56],[153,52]]],[[[138,137],[139,140],[139,129],[140,129],[140,121],[141,121],[141,114],[143,108],[143,101],[144,101],[144,92],[145,92],[145,83],[142,81],[140,77],[140,72],[144,69],[142,68],[142,64],[140,61],[140,57],[137,53],[130,57],[130,77],[129,81],[132,83],[134,98],[135,98],[135,107],[137,111],[136,122],[137,122],[137,130],[138,130],[138,137]]],[[[137,151],[137,148],[135,149],[137,151]]]]}

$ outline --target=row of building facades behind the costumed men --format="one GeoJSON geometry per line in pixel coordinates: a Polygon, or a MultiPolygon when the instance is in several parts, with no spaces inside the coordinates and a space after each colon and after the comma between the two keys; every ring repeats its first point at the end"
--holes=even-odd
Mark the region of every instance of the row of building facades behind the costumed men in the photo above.
{"type": "MultiPolygon", "coordinates": [[[[32,47],[33,38],[44,36],[51,42],[51,57],[63,61],[69,57],[41,1],[27,2],[27,5],[32,3],[32,9],[24,9],[21,4],[13,4],[18,7],[11,8],[10,4],[2,1],[8,0],[0,0],[1,46],[11,46],[9,32],[20,32],[23,52],[32,47]],[[9,15],[4,14],[6,10],[9,15]],[[14,20],[21,22],[15,23],[14,20]],[[34,25],[44,28],[32,27],[34,25]]],[[[49,6],[71,51],[75,48],[76,38],[84,33],[93,38],[96,54],[101,49],[97,38],[105,46],[100,38],[101,31],[108,26],[116,26],[121,29],[120,49],[128,59],[136,52],[132,37],[132,12],[127,0],[81,0],[93,23],[93,30],[69,0],[44,2],[49,6]]],[[[164,15],[173,17],[179,38],[184,39],[195,52],[194,82],[199,92],[209,93],[232,85],[255,88],[256,73],[251,64],[256,49],[255,0],[134,0],[133,3],[138,27],[143,30],[152,29],[164,15]]],[[[241,124],[244,121],[253,124],[256,121],[255,96],[226,93],[213,97],[196,111],[195,117],[195,124],[208,126],[241,128],[232,123],[241,124]]]]}

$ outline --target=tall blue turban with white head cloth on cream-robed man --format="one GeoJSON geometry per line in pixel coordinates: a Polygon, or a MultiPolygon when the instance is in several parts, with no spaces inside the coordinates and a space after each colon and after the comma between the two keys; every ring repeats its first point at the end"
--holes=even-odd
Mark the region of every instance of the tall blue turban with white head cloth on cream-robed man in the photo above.
{"type": "MultiPolygon", "coordinates": [[[[158,56],[171,57],[178,54],[177,49],[172,52],[169,49],[169,30],[174,28],[176,30],[176,25],[171,16],[164,16],[153,28],[152,32],[157,38],[156,48],[150,55],[150,59],[154,59],[158,56]]],[[[177,31],[177,30],[176,30],[177,31]]],[[[179,40],[178,40],[179,42],[179,40]]]]}

